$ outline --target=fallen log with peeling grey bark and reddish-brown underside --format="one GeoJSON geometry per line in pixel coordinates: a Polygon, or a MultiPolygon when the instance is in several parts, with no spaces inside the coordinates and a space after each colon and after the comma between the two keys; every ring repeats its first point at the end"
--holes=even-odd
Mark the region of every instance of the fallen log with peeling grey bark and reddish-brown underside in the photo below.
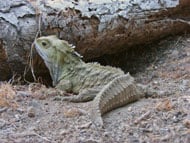
{"type": "MultiPolygon", "coordinates": [[[[39,30],[73,43],[86,60],[190,31],[189,0],[103,2],[0,1],[0,80],[23,74],[39,30]]],[[[34,59],[35,71],[47,73],[34,59]]]]}

